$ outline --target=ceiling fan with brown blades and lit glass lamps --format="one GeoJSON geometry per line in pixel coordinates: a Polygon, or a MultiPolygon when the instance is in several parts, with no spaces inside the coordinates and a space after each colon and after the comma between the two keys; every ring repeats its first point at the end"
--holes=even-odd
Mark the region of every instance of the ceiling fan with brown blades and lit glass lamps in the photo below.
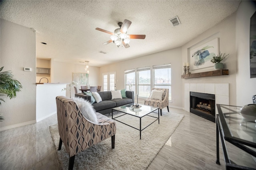
{"type": "Polygon", "coordinates": [[[103,43],[103,45],[107,45],[108,43],[113,42],[114,44],[117,45],[117,47],[119,47],[122,43],[125,48],[128,48],[130,47],[129,45],[130,39],[145,39],[146,37],[146,35],[134,35],[134,34],[127,35],[126,34],[127,29],[130,27],[131,24],[132,22],[129,20],[124,20],[124,22],[118,22],[118,26],[120,28],[115,29],[114,33],[101,28],[96,28],[96,30],[112,35],[110,36],[111,39],[103,43]]]}

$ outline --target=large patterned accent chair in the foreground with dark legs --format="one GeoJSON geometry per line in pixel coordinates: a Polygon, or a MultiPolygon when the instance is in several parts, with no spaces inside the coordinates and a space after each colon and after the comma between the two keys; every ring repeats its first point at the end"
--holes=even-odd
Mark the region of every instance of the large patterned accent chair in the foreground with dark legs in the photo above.
{"type": "Polygon", "coordinates": [[[111,137],[115,147],[116,122],[96,112],[98,123],[86,119],[72,98],[56,97],[58,130],[60,142],[58,150],[64,144],[69,154],[68,169],[72,170],[76,154],[111,137]]]}

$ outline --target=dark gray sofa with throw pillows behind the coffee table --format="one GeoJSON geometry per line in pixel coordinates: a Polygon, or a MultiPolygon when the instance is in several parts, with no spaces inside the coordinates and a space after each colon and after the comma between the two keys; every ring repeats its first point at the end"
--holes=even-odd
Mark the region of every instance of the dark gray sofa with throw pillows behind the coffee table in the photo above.
{"type": "MultiPolygon", "coordinates": [[[[94,107],[94,109],[97,112],[99,112],[103,115],[105,115],[107,113],[111,113],[113,107],[118,107],[118,106],[122,106],[125,104],[133,104],[134,103],[134,92],[133,91],[126,91],[127,98],[113,99],[113,100],[112,100],[111,91],[98,92],[98,94],[102,98],[102,102],[94,103],[94,104],[92,104],[92,106],[94,107]]],[[[75,96],[83,98],[88,101],[91,101],[91,96],[88,96],[83,93],[76,93],[75,96]]]]}

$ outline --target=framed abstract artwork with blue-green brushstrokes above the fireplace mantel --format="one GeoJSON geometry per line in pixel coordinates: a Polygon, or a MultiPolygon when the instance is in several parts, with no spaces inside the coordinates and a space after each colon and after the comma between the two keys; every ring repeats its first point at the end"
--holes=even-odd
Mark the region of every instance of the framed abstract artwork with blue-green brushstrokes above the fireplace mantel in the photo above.
{"type": "Polygon", "coordinates": [[[219,53],[219,39],[213,39],[198,47],[191,47],[189,49],[190,70],[206,68],[214,66],[211,62],[212,57],[219,53]]]}

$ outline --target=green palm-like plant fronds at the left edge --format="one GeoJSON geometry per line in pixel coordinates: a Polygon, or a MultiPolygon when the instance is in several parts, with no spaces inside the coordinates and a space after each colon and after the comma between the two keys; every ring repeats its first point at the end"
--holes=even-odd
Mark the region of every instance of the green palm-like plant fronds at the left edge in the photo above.
{"type": "MultiPolygon", "coordinates": [[[[0,68],[0,105],[1,101],[4,102],[3,97],[10,99],[16,97],[16,92],[20,92],[22,85],[16,80],[11,71],[3,71],[3,66],[0,68]]],[[[4,117],[0,116],[0,121],[3,121],[4,117]]]]}

